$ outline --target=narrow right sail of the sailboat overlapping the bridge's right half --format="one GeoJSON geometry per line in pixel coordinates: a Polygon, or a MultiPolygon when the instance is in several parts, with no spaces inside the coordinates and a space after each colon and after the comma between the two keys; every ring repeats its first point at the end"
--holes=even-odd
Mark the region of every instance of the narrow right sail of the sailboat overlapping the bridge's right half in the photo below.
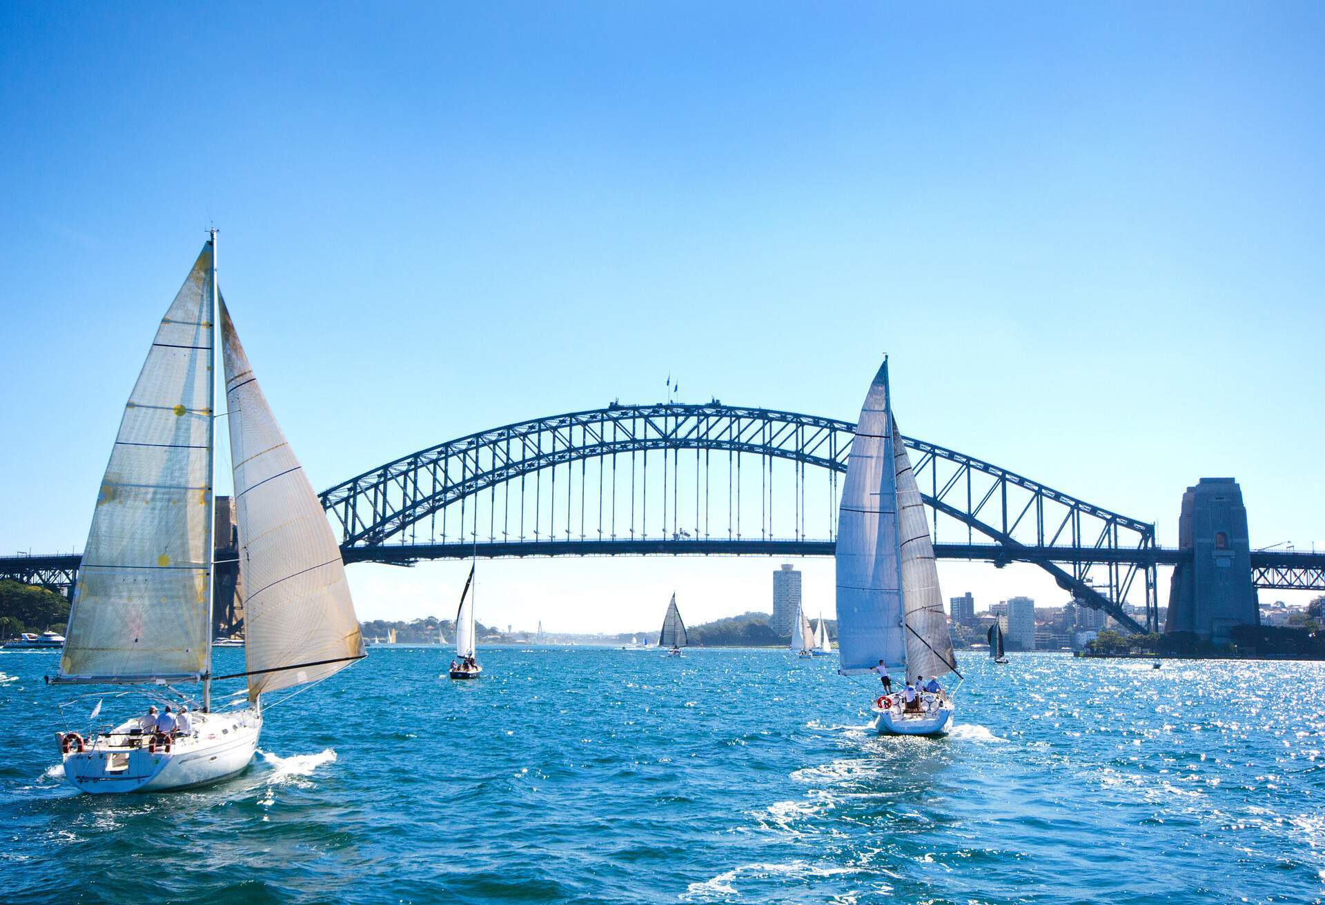
{"type": "Polygon", "coordinates": [[[957,668],[953,637],[938,588],[934,543],[925,519],[925,501],[916,486],[916,473],[906,445],[893,419],[893,449],[897,460],[897,514],[901,530],[902,602],[906,613],[906,676],[943,676],[957,668]]]}

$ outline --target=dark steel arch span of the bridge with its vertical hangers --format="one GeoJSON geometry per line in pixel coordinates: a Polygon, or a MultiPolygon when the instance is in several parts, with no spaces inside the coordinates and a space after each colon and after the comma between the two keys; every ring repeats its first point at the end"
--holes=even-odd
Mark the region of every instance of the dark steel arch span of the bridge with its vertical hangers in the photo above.
{"type": "MultiPolygon", "coordinates": [[[[832,555],[853,436],[849,421],[718,400],[612,403],[429,447],[321,500],[347,562],[832,555]]],[[[904,440],[939,557],[1032,562],[1079,602],[1158,631],[1154,525],[904,440]]]]}

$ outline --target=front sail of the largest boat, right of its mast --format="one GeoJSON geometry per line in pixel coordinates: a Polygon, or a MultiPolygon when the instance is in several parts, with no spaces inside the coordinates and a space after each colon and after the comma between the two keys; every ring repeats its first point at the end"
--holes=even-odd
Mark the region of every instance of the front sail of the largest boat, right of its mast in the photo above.
{"type": "Polygon", "coordinates": [[[249,700],[363,656],[341,547],[221,302],[249,700]]]}

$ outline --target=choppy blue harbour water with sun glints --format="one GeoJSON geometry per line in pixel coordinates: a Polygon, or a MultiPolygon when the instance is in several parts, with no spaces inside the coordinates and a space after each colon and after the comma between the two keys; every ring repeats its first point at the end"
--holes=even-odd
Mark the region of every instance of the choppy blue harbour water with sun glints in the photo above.
{"type": "Polygon", "coordinates": [[[0,655],[0,901],[1325,897],[1321,664],[967,657],[933,741],[868,733],[873,685],[836,657],[482,660],[450,682],[449,651],[375,648],[269,710],[241,778],[119,798],[54,775],[57,704],[86,689],[0,655]]]}

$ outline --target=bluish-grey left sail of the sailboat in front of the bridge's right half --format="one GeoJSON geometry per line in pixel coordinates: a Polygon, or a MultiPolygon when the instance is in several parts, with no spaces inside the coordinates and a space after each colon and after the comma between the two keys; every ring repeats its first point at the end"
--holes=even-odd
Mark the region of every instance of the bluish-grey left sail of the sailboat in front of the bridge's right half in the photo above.
{"type": "Polygon", "coordinates": [[[837,652],[840,672],[901,666],[902,586],[888,362],[865,396],[847,460],[837,517],[837,652]]]}

